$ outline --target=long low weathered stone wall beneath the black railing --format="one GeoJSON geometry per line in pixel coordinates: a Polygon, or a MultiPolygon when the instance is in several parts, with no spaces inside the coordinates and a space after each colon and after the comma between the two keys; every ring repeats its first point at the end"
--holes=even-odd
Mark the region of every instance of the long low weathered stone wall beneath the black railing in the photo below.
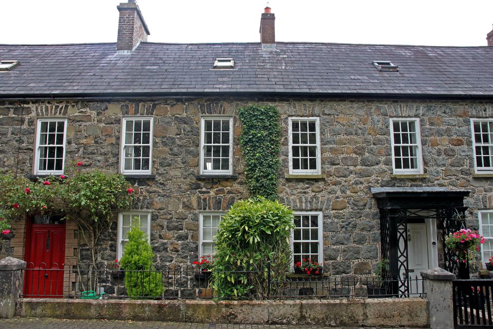
{"type": "Polygon", "coordinates": [[[65,300],[24,298],[17,315],[70,319],[108,319],[244,324],[427,327],[422,298],[212,301],[65,300]]]}

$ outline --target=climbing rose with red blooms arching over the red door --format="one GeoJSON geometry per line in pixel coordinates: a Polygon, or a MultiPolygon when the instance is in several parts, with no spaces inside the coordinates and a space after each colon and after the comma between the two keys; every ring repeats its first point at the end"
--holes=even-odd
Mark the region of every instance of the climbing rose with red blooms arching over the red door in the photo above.
{"type": "Polygon", "coordinates": [[[63,175],[36,181],[11,172],[0,175],[0,229],[10,230],[26,215],[62,215],[78,223],[95,263],[99,237],[118,212],[130,208],[134,189],[121,174],[83,170],[83,166],[79,161],[63,175]]]}

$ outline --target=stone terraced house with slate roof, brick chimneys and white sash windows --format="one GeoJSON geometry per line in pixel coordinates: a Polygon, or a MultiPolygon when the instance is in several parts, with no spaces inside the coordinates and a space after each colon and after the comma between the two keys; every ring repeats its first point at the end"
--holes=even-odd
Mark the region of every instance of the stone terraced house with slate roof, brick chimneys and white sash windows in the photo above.
{"type": "MultiPolygon", "coordinates": [[[[392,275],[453,269],[457,215],[485,236],[483,261],[493,254],[493,47],[275,42],[270,8],[260,43],[150,43],[137,4],[118,10],[117,43],[0,45],[2,171],[83,160],[134,186],[101,262],[121,257],[132,216],[157,264],[214,253],[221,216],[249,196],[238,108],[250,104],[280,113],[295,259],[331,276],[370,275],[380,259],[392,275]]],[[[61,227],[64,263],[88,260],[73,223],[31,218],[3,257],[32,261],[33,225],[61,227]]]]}

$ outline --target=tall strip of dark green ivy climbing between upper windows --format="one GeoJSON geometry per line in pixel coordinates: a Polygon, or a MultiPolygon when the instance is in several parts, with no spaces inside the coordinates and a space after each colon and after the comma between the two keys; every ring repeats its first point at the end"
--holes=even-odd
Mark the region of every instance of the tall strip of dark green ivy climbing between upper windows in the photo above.
{"type": "Polygon", "coordinates": [[[277,199],[281,126],[274,106],[249,105],[239,109],[241,153],[250,195],[277,199]]]}

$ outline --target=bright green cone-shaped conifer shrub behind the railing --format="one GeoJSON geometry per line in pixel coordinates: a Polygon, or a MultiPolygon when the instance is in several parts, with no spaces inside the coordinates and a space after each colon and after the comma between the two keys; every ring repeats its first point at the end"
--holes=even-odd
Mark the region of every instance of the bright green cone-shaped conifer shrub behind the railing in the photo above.
{"type": "Polygon", "coordinates": [[[120,261],[125,272],[125,288],[132,298],[160,297],[163,292],[162,274],[150,270],[153,266],[154,253],[147,235],[139,228],[139,219],[132,220],[127,233],[128,243],[120,261]]]}

